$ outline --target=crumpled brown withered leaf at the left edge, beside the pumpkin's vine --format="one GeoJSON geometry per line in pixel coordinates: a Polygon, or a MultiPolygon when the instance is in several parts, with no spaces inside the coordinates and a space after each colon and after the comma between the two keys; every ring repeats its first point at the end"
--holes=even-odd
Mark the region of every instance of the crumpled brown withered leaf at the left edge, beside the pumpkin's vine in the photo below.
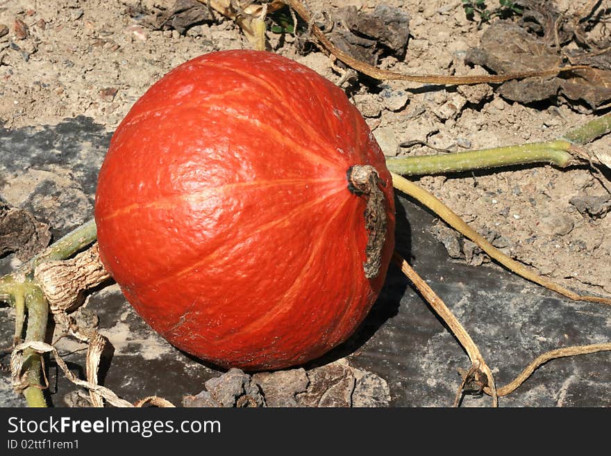
{"type": "Polygon", "coordinates": [[[27,261],[51,241],[49,225],[39,222],[28,211],[0,202],[0,257],[15,252],[27,261]]]}

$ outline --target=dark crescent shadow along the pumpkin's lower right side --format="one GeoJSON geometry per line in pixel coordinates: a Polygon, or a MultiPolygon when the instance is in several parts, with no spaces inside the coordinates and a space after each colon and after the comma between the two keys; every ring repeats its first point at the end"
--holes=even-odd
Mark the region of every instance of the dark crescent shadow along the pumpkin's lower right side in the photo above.
{"type": "MultiPolygon", "coordinates": [[[[396,195],[394,200],[396,207],[395,250],[401,257],[409,259],[412,252],[412,228],[405,213],[405,207],[396,195]]],[[[380,295],[378,295],[378,299],[374,302],[369,314],[367,314],[367,317],[365,317],[365,320],[362,321],[356,331],[346,341],[333,348],[333,350],[326,352],[325,355],[317,359],[308,361],[308,363],[301,365],[301,367],[308,370],[358,352],[387,320],[399,314],[401,298],[408,286],[409,282],[405,280],[405,275],[391,261],[380,295]]]]}

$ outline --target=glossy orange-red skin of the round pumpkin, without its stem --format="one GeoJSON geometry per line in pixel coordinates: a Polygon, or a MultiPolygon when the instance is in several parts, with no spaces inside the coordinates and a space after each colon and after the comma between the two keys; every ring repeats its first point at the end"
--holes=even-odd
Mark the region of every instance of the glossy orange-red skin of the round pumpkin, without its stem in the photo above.
{"type": "Polygon", "coordinates": [[[206,54],[151,86],[112,136],[95,220],[104,266],[153,329],[249,371],[347,339],[394,248],[392,179],[365,120],[333,83],[266,51],[206,54]],[[353,165],[383,181],[371,279],[353,165]]]}

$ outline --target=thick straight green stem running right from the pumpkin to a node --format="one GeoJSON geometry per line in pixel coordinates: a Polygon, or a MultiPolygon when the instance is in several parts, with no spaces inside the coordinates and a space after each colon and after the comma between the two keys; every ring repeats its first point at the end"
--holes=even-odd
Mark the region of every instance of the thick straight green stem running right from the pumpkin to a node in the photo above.
{"type": "Polygon", "coordinates": [[[532,142],[449,154],[387,158],[386,165],[390,171],[403,176],[501,168],[527,163],[550,163],[564,168],[574,161],[568,152],[570,147],[571,142],[567,140],[532,142]]]}

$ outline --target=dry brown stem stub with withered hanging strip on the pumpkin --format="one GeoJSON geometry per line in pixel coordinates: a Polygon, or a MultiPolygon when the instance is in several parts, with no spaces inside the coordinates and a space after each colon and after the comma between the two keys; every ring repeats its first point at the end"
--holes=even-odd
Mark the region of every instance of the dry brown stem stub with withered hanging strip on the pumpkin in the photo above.
{"type": "Polygon", "coordinates": [[[365,228],[367,229],[366,261],[363,270],[367,279],[373,279],[380,273],[382,265],[382,250],[386,241],[386,210],[384,193],[376,168],[371,165],[354,165],[346,172],[348,190],[357,196],[367,199],[365,207],[365,228]]]}

